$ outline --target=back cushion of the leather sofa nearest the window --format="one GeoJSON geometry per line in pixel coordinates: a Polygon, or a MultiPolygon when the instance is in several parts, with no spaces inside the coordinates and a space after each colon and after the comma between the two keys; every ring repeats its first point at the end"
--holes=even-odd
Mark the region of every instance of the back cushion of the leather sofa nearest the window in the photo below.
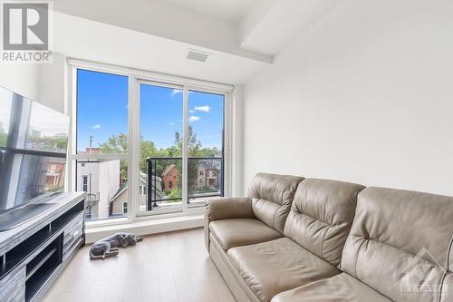
{"type": "Polygon", "coordinates": [[[294,193],[303,177],[258,173],[248,189],[256,219],[283,234],[294,193]]]}

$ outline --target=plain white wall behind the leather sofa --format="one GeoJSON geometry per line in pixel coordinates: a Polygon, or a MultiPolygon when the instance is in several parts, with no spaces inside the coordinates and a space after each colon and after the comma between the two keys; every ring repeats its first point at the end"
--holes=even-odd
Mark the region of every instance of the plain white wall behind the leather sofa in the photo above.
{"type": "Polygon", "coordinates": [[[453,195],[453,2],[350,0],[245,87],[258,171],[453,195]]]}

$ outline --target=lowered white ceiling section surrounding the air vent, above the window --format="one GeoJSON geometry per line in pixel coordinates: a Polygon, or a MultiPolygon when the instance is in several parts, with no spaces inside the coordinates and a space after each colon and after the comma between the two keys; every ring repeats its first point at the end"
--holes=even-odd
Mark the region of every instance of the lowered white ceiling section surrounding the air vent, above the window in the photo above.
{"type": "Polygon", "coordinates": [[[198,46],[210,54],[200,63],[187,59],[192,44],[61,13],[53,19],[54,52],[75,59],[227,84],[246,83],[267,64],[198,46]]]}

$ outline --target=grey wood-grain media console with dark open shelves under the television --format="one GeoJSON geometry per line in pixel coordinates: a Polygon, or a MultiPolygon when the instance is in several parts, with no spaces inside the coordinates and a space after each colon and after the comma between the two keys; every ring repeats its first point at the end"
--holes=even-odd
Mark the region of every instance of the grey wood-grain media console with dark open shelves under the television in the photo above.
{"type": "Polygon", "coordinates": [[[41,301],[84,244],[84,193],[61,193],[54,204],[14,229],[0,232],[0,301],[41,301]]]}

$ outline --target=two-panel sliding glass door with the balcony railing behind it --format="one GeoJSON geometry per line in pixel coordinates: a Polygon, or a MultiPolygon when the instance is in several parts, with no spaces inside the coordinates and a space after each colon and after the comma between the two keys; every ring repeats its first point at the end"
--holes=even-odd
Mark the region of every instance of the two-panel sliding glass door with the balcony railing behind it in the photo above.
{"type": "Polygon", "coordinates": [[[200,206],[224,193],[225,95],[139,83],[141,214],[200,206]]]}

